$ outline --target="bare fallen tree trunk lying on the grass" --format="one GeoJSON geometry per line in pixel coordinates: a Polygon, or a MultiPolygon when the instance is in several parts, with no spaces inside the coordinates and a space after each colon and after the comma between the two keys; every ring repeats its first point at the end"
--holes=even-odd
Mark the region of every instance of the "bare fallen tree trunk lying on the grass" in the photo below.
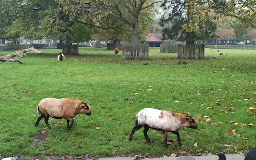
{"type": "Polygon", "coordinates": [[[19,56],[21,58],[25,57],[27,55],[26,52],[28,52],[28,51],[33,51],[36,54],[42,54],[43,53],[42,51],[38,51],[38,50],[34,49],[34,47],[30,47],[29,49],[25,49],[25,50],[22,50],[22,51],[15,51],[15,53],[0,56],[0,61],[1,62],[9,61],[9,62],[23,63],[20,60],[16,60],[16,59],[13,59],[13,58],[16,57],[16,56],[19,56]]]}

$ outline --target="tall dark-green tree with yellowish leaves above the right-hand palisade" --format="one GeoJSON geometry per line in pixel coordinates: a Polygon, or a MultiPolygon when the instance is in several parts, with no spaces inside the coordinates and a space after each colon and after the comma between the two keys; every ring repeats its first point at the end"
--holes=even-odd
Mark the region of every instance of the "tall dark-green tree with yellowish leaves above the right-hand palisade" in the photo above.
{"type": "Polygon", "coordinates": [[[217,28],[212,20],[204,23],[197,23],[195,19],[202,19],[205,15],[196,14],[196,6],[206,5],[203,1],[184,0],[164,2],[162,4],[163,14],[161,26],[163,39],[174,39],[186,41],[187,44],[194,44],[195,40],[206,40],[215,37],[214,31],[217,28]]]}

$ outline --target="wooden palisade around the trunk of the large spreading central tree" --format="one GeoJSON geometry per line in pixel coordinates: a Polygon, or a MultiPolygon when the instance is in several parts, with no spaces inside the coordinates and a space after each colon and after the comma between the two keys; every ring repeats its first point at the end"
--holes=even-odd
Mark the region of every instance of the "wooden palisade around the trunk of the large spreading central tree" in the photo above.
{"type": "Polygon", "coordinates": [[[148,44],[125,44],[123,47],[123,60],[148,60],[148,44]]]}

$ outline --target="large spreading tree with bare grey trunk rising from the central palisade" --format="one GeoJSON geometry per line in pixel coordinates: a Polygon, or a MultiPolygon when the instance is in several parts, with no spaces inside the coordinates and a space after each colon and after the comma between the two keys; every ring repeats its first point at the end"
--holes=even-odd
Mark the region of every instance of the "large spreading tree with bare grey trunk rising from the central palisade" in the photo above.
{"type": "MultiPolygon", "coordinates": [[[[93,11],[94,16],[89,19],[83,18],[83,23],[93,25],[94,27],[106,29],[112,27],[116,29],[123,25],[131,27],[132,43],[138,44],[139,37],[143,31],[147,30],[147,24],[150,14],[153,12],[153,6],[156,3],[151,0],[97,0],[83,1],[78,0],[77,5],[72,5],[73,1],[58,0],[68,12],[74,14],[83,14],[93,11]],[[90,9],[86,5],[90,4],[90,9]],[[98,21],[95,21],[98,20],[98,21]],[[115,21],[115,26],[111,26],[107,21],[115,21]]],[[[161,2],[161,1],[159,1],[161,2]]],[[[112,24],[113,25],[113,24],[112,24]]]]}

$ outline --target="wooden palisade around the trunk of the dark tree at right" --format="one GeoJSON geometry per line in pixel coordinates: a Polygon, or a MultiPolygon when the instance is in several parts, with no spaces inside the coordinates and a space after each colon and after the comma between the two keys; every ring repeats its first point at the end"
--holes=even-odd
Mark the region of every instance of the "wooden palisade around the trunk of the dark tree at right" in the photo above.
{"type": "Polygon", "coordinates": [[[178,44],[178,59],[204,59],[204,44],[178,44]]]}

